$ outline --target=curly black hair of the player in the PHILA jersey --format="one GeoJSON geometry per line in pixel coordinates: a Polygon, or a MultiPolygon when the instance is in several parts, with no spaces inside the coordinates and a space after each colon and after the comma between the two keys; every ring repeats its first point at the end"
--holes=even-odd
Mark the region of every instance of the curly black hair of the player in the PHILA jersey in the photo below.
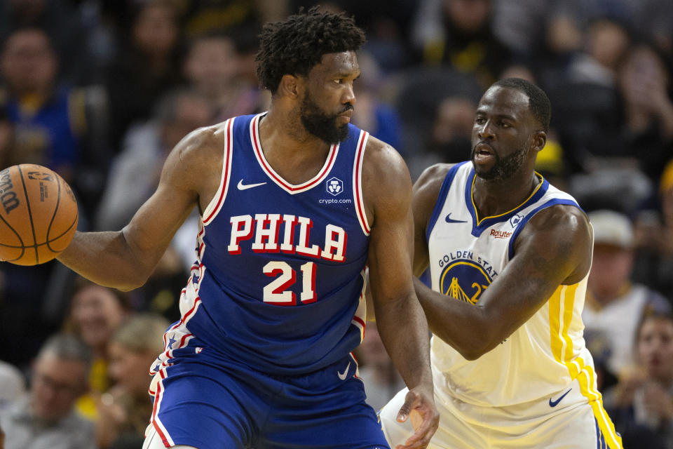
{"type": "Polygon", "coordinates": [[[267,23],[259,34],[257,78],[276,93],[285,74],[308,76],[322,55],[358,51],[365,32],[351,17],[321,11],[318,6],[300,10],[284,22],[267,23]]]}

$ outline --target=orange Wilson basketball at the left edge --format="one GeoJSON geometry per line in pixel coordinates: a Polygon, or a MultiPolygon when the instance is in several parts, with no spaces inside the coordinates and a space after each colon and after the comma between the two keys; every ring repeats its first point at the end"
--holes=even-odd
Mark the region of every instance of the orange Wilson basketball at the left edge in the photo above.
{"type": "Polygon", "coordinates": [[[72,189],[49,168],[22,163],[0,171],[0,259],[52,260],[72,241],[78,217],[72,189]]]}

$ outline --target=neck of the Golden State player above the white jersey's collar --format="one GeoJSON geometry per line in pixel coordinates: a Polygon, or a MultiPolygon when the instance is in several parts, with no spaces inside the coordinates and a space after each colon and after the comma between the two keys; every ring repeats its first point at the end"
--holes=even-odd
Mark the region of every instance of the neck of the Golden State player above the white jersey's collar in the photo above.
{"type": "Polygon", "coordinates": [[[501,215],[520,206],[540,184],[533,173],[515,173],[506,180],[476,178],[472,192],[480,218],[501,215]]]}

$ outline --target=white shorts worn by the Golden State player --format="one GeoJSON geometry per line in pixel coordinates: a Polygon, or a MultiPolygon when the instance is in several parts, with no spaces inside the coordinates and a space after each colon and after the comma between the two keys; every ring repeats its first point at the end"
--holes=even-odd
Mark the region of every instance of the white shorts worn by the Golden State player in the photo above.
{"type": "MultiPolygon", "coordinates": [[[[390,447],[413,434],[409,421],[395,420],[407,389],[381,410],[381,425],[390,447]]],[[[428,449],[622,449],[620,436],[601,431],[594,408],[582,402],[577,381],[552,398],[509,407],[484,407],[435,391],[440,428],[428,449]]]]}

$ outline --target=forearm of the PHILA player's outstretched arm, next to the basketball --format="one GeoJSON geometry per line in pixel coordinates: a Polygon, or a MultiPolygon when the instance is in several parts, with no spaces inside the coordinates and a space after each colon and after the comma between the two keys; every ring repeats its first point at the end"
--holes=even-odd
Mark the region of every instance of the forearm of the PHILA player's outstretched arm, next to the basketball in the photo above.
{"type": "Polygon", "coordinates": [[[66,267],[102,286],[132,290],[151,274],[120,232],[77,232],[57,257],[66,267]]]}

